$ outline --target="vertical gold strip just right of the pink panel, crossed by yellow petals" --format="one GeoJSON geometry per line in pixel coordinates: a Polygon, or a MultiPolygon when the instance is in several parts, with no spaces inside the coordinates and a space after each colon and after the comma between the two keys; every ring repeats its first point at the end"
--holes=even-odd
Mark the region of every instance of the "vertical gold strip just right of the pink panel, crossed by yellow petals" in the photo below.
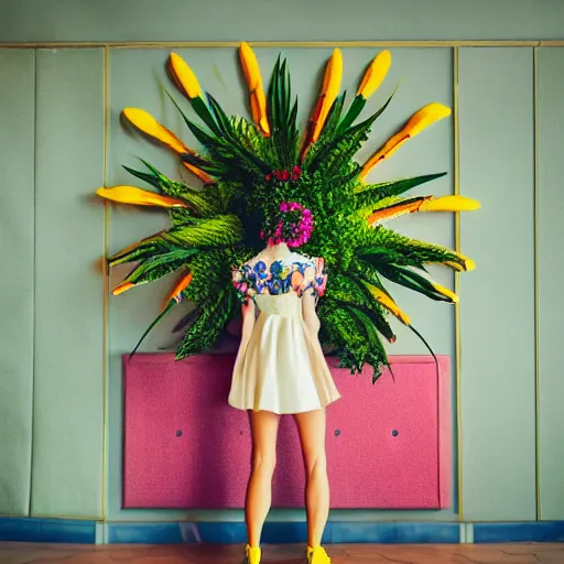
{"type": "MultiPolygon", "coordinates": [[[[458,106],[458,47],[453,48],[453,145],[454,145],[454,193],[460,194],[460,131],[458,106]]],[[[460,213],[454,215],[454,246],[460,252],[460,213]]],[[[454,273],[454,291],[460,294],[460,273],[454,273]]],[[[463,421],[462,421],[462,337],[460,337],[460,303],[455,304],[454,339],[455,339],[455,380],[456,380],[456,433],[457,433],[457,490],[458,519],[464,521],[463,495],[463,421]]]]}

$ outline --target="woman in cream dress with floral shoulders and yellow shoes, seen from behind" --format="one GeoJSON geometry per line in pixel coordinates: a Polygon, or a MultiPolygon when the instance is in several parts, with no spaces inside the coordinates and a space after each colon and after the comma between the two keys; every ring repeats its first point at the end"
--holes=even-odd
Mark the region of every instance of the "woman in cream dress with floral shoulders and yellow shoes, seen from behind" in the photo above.
{"type": "Polygon", "coordinates": [[[271,505],[279,419],[292,414],[305,464],[308,564],[329,564],[321,546],[329,511],[325,406],[339,398],[318,340],[317,297],[326,284],[323,259],[290,247],[307,241],[313,221],[297,203],[282,203],[263,237],[267,248],[234,271],[242,300],[242,336],[229,404],[249,412],[251,475],[245,514],[248,564],[259,564],[271,505]]]}

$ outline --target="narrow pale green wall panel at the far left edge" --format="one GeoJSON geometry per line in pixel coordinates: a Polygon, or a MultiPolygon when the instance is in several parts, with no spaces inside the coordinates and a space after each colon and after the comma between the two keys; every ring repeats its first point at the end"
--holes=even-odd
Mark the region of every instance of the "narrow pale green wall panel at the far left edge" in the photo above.
{"type": "Polygon", "coordinates": [[[0,51],[0,514],[30,506],[35,51],[0,51]]]}

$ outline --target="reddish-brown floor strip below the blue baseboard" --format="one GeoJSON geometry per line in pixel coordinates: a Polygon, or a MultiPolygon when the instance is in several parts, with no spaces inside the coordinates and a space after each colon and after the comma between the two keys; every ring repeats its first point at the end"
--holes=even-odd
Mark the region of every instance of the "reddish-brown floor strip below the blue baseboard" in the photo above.
{"type": "MultiPolygon", "coordinates": [[[[564,564],[563,544],[338,544],[333,564],[564,564]]],[[[64,545],[0,543],[1,564],[240,564],[236,545],[64,545]]],[[[261,564],[301,564],[301,546],[264,546],[261,564]]]]}

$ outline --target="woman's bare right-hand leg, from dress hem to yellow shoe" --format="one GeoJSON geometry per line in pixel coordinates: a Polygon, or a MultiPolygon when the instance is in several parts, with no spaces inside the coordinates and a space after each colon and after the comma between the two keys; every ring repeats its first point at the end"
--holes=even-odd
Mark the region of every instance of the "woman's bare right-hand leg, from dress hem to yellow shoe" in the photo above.
{"type": "Polygon", "coordinates": [[[329,480],[325,455],[325,410],[294,415],[300,432],[305,464],[305,511],[307,516],[307,544],[321,545],[329,516],[329,480]]]}

